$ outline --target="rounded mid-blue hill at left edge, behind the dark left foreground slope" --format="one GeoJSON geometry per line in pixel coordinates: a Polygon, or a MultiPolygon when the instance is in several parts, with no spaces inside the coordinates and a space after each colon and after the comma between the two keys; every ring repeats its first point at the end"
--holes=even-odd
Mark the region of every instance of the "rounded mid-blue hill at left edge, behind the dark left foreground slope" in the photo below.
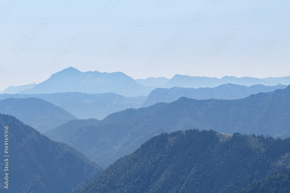
{"type": "Polygon", "coordinates": [[[44,133],[77,119],[64,109],[38,98],[8,98],[0,101],[0,113],[18,117],[24,124],[44,133]]]}

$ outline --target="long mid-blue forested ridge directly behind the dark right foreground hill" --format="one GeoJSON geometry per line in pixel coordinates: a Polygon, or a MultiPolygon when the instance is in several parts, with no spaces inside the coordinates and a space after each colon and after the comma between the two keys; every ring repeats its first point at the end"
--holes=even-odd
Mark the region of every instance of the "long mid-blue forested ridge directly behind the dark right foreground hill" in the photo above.
{"type": "MultiPolygon", "coordinates": [[[[75,145],[89,159],[108,166],[132,153],[146,140],[161,133],[186,129],[213,129],[220,133],[255,133],[290,136],[290,86],[271,93],[258,93],[238,100],[194,100],[182,97],[171,103],[157,103],[112,113],[87,124],[89,135],[75,145]]],[[[77,121],[76,121],[77,122],[77,121]]],[[[81,121],[86,125],[85,120],[81,121]]],[[[69,143],[82,128],[69,132],[62,125],[47,135],[69,143]],[[62,139],[57,136],[62,135],[62,139]]]]}

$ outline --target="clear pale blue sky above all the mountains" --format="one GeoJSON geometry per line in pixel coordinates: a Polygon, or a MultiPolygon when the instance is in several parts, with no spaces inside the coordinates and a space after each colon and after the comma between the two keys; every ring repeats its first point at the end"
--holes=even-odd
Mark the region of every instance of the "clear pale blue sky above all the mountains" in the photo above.
{"type": "Polygon", "coordinates": [[[290,75],[288,0],[2,0],[0,8],[0,90],[68,67],[134,79],[290,75]]]}

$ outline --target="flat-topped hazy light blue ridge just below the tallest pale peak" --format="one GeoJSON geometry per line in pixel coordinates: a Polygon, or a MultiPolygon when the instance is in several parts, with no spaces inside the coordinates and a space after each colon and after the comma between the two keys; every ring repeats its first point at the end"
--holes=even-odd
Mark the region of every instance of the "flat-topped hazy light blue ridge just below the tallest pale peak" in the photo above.
{"type": "MultiPolygon", "coordinates": [[[[0,100],[19,98],[19,94],[2,94],[0,100]]],[[[79,119],[104,119],[107,115],[128,108],[140,108],[146,101],[146,96],[124,97],[115,93],[53,93],[53,94],[23,94],[21,98],[40,98],[68,111],[79,119]]]]}

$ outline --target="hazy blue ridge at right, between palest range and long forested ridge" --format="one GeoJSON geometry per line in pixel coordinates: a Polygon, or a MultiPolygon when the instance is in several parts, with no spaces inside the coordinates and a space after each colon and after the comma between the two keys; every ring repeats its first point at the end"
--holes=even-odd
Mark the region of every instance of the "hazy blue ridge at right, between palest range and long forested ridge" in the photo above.
{"type": "Polygon", "coordinates": [[[236,85],[236,84],[222,84],[214,88],[180,88],[173,87],[171,89],[157,88],[148,95],[147,100],[143,103],[143,107],[156,104],[157,102],[173,102],[180,97],[192,98],[197,100],[206,99],[241,99],[257,94],[260,92],[273,92],[276,89],[284,89],[286,85],[265,86],[262,84],[253,85],[251,87],[236,85]]]}

